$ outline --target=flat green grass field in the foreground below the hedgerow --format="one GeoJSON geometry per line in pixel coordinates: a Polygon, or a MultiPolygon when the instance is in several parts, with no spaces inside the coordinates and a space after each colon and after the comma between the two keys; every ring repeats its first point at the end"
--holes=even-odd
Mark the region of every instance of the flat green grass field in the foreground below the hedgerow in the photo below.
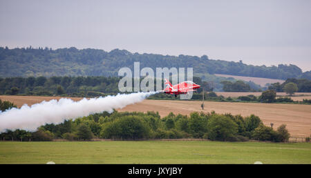
{"type": "Polygon", "coordinates": [[[311,143],[0,141],[0,164],[311,164],[311,143]]]}

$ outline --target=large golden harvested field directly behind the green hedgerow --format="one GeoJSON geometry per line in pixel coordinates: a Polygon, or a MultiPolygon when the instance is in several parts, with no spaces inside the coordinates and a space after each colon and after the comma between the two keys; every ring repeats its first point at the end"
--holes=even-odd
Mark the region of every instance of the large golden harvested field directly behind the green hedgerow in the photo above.
{"type": "MultiPolygon", "coordinates": [[[[0,99],[12,101],[21,107],[23,104],[32,105],[50,99],[60,99],[61,97],[33,97],[33,96],[5,96],[0,95],[0,99]]],[[[79,97],[71,97],[79,101],[79,97]]],[[[119,111],[158,111],[164,117],[173,112],[175,114],[189,115],[194,111],[202,111],[200,108],[202,101],[169,101],[146,99],[140,103],[126,106],[119,111]]],[[[282,123],[287,125],[293,137],[308,137],[311,134],[311,105],[283,104],[283,103],[230,103],[205,101],[204,112],[214,110],[217,113],[232,113],[233,115],[258,115],[263,123],[270,126],[274,123],[277,128],[282,123]]]]}

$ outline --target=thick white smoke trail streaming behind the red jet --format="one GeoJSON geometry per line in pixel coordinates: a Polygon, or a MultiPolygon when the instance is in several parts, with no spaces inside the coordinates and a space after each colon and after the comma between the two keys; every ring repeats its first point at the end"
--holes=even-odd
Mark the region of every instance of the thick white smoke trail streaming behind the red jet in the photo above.
{"type": "Polygon", "coordinates": [[[135,92],[118,94],[115,96],[82,99],[73,101],[62,98],[42,101],[32,106],[23,105],[21,108],[12,108],[5,112],[0,111],[0,133],[9,130],[35,131],[46,123],[62,123],[65,119],[76,119],[96,112],[113,112],[113,109],[124,108],[140,102],[157,92],[135,92]]]}

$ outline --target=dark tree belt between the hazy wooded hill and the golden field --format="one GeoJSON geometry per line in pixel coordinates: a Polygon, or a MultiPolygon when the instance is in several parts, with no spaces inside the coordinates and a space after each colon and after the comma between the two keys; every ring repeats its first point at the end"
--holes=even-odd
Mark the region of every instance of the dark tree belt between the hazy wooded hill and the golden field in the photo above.
{"type": "MultiPolygon", "coordinates": [[[[39,96],[62,96],[62,97],[105,97],[116,95],[120,77],[0,77],[0,95],[39,95],[39,96]]],[[[133,80],[132,80],[133,81],[133,80]]],[[[193,81],[201,86],[193,93],[191,99],[202,100],[204,90],[205,100],[212,101],[254,101],[254,102],[294,102],[290,97],[276,98],[278,88],[285,88],[285,91],[292,95],[294,92],[311,92],[311,81],[307,79],[288,79],[281,85],[273,83],[270,90],[262,93],[261,97],[254,95],[241,96],[236,99],[223,97],[213,92],[213,84],[202,81],[200,77],[194,77],[193,81]],[[296,83],[294,83],[294,82],[296,83]],[[276,88],[276,86],[278,86],[276,88]],[[280,86],[280,87],[279,87],[280,86]],[[286,86],[286,87],[285,87],[286,86]]],[[[156,90],[156,81],[155,90],[156,90]]],[[[223,90],[227,92],[254,92],[247,83],[243,81],[221,81],[223,90]]],[[[132,83],[133,84],[133,83],[132,83]]],[[[163,83],[162,83],[163,85],[163,83]]],[[[164,87],[164,86],[162,86],[164,87]]],[[[261,91],[261,90],[257,90],[261,91]]],[[[152,95],[149,99],[178,99],[171,95],[159,93],[152,95]]],[[[305,99],[301,103],[310,103],[305,99]]]]}

